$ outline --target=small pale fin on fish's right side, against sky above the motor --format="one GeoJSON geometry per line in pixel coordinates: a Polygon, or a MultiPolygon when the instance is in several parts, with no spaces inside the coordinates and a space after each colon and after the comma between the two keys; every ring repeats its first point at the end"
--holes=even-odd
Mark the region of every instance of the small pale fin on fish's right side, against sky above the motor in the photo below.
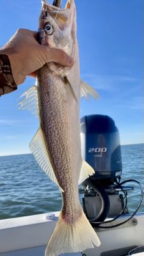
{"type": "Polygon", "coordinates": [[[85,97],[87,100],[89,100],[89,95],[95,100],[99,98],[99,94],[89,84],[81,81],[80,86],[81,97],[85,97]]]}

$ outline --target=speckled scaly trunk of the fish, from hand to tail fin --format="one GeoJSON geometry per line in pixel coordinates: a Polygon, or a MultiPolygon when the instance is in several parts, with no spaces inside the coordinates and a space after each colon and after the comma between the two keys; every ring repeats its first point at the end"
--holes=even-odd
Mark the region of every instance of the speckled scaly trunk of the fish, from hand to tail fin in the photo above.
{"type": "Polygon", "coordinates": [[[78,102],[75,97],[71,97],[69,84],[53,72],[48,72],[45,76],[46,83],[42,78],[46,72],[47,67],[41,68],[38,72],[40,126],[55,177],[64,191],[62,214],[64,218],[66,215],[67,220],[69,218],[69,221],[75,222],[73,214],[78,214],[78,179],[82,166],[80,125],[76,115],[79,112],[78,102]]]}

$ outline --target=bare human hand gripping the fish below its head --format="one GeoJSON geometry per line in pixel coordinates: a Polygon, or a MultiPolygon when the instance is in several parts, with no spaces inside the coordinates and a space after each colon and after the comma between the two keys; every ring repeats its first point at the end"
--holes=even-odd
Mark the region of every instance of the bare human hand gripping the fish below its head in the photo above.
{"type": "Polygon", "coordinates": [[[18,29],[10,41],[0,50],[8,55],[15,83],[22,84],[26,76],[36,76],[36,70],[45,63],[54,61],[66,67],[73,65],[73,59],[61,49],[38,44],[38,33],[28,29],[18,29]]]}

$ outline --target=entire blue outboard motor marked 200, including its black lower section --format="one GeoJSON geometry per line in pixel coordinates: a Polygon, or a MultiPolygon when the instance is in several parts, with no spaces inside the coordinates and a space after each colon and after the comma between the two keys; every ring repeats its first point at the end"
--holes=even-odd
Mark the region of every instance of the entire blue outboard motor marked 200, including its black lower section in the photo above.
{"type": "Polygon", "coordinates": [[[124,207],[120,189],[114,185],[122,174],[119,130],[110,116],[89,115],[81,119],[82,157],[94,168],[83,182],[83,209],[89,220],[103,221],[124,207]]]}

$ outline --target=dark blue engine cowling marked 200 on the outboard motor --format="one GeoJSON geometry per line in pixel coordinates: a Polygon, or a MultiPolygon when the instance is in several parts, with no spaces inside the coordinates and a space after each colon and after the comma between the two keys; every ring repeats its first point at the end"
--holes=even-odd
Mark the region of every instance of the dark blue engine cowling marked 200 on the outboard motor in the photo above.
{"type": "Polygon", "coordinates": [[[95,170],[92,180],[113,180],[122,174],[119,130],[106,115],[81,118],[82,157],[95,170]]]}

